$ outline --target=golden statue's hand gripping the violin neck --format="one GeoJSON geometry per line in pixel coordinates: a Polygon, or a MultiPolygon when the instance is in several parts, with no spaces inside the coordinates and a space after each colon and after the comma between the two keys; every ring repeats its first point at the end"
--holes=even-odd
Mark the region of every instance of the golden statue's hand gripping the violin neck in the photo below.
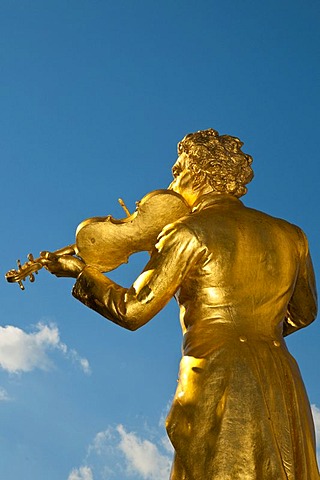
{"type": "Polygon", "coordinates": [[[46,270],[56,277],[72,277],[82,272],[85,263],[72,255],[56,255],[52,252],[41,252],[41,263],[46,270]]]}

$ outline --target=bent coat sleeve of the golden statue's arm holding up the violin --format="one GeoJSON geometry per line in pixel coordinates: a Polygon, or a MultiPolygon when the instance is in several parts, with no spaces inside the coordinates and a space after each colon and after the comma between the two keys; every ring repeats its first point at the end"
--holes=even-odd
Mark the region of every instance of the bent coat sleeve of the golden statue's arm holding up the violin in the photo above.
{"type": "Polygon", "coordinates": [[[130,288],[121,287],[87,266],[77,278],[72,294],[112,322],[136,330],[169,302],[201,250],[201,243],[188,227],[180,223],[168,225],[130,288]]]}

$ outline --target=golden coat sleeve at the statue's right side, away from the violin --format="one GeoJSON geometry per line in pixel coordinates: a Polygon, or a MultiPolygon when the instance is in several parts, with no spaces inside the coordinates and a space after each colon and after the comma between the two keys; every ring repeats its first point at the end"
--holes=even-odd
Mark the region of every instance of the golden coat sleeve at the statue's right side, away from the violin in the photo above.
{"type": "Polygon", "coordinates": [[[299,229],[299,233],[302,238],[300,267],[284,322],[284,336],[306,327],[317,316],[317,289],[308,240],[302,230],[299,229]]]}

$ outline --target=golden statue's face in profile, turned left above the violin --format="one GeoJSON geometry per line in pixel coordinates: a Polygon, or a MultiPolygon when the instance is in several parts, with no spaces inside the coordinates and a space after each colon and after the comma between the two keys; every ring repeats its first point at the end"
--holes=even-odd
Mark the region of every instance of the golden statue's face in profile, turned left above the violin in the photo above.
{"type": "Polygon", "coordinates": [[[186,202],[192,206],[198,199],[200,192],[193,188],[192,176],[188,168],[188,163],[188,155],[182,153],[172,168],[174,180],[169,185],[168,189],[182,195],[186,202]]]}

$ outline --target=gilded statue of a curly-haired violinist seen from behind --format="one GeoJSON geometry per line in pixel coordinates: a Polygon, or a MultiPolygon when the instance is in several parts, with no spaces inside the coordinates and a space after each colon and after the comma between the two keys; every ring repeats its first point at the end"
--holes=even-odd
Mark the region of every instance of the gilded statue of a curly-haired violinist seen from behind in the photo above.
{"type": "MultiPolygon", "coordinates": [[[[319,480],[309,401],[283,338],[316,317],[308,243],[300,228],[239,200],[253,178],[241,147],[213,129],[179,143],[169,192],[151,194],[164,205],[139,205],[157,227],[151,235],[146,220],[136,229],[151,238],[151,257],[129,289],[102,273],[116,266],[105,243],[117,224],[110,217],[83,222],[75,246],[28,266],[75,277],[75,298],[129,330],[176,297],[183,357],[167,418],[171,480],[319,480]],[[175,213],[158,224],[171,199],[175,213]]],[[[118,221],[119,231],[136,217],[118,221]]],[[[120,237],[122,245],[132,235],[120,237]]],[[[139,249],[130,246],[116,263],[139,249]]]]}

